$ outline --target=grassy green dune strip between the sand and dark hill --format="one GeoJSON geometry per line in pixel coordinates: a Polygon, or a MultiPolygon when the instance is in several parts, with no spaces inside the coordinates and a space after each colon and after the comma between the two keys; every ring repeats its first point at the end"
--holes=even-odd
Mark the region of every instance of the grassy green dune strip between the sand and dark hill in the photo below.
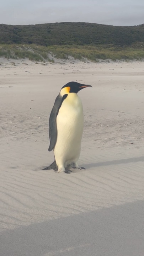
{"type": "Polygon", "coordinates": [[[1,44],[0,57],[7,59],[28,58],[35,61],[51,61],[57,59],[86,59],[98,62],[99,59],[106,60],[142,60],[144,59],[144,43],[130,47],[117,47],[113,45],[103,46],[37,46],[36,44],[1,44]]]}

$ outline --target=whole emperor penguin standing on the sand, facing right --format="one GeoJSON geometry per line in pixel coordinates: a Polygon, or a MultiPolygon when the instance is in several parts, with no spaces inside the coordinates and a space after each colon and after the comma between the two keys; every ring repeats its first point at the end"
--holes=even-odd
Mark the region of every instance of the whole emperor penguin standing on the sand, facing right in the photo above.
{"type": "Polygon", "coordinates": [[[43,170],[54,169],[69,173],[69,167],[78,168],[84,127],[82,102],[78,92],[91,85],[68,82],[55,99],[49,117],[48,150],[54,151],[54,162],[43,170]]]}

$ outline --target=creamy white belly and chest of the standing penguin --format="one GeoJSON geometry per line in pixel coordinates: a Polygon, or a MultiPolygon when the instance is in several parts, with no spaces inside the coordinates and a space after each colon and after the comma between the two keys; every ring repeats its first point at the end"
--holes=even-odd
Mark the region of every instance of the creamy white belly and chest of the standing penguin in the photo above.
{"type": "Polygon", "coordinates": [[[76,163],[80,156],[84,116],[82,103],[77,94],[68,94],[59,109],[56,121],[57,142],[54,156],[58,169],[62,168],[64,171],[64,167],[76,163]]]}

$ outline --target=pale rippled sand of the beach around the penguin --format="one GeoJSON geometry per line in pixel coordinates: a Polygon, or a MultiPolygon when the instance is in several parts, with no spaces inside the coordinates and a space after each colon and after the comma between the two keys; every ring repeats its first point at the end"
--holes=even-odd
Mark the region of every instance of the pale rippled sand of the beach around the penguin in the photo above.
{"type": "Polygon", "coordinates": [[[143,256],[144,63],[11,61],[0,59],[0,256],[143,256]],[[93,86],[79,92],[86,170],[43,171],[69,81],[93,86]]]}

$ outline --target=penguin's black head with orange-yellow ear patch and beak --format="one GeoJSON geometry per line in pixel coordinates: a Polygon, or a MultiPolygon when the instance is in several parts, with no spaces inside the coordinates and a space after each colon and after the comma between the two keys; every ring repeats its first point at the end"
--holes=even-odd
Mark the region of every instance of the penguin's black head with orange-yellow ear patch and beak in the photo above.
{"type": "Polygon", "coordinates": [[[60,94],[64,95],[64,94],[69,94],[71,92],[77,94],[80,90],[82,90],[86,87],[92,87],[92,86],[80,84],[78,82],[68,82],[68,84],[66,84],[62,87],[62,89],[60,90],[60,94]]]}

